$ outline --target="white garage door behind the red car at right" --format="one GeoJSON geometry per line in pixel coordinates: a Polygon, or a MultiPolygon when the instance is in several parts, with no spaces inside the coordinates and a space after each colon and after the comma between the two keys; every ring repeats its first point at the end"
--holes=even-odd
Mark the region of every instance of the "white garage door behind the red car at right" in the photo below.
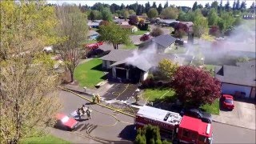
{"type": "Polygon", "coordinates": [[[241,91],[246,93],[246,98],[250,97],[250,86],[239,86],[232,85],[228,83],[222,83],[222,93],[223,94],[234,94],[235,91],[241,91]]]}

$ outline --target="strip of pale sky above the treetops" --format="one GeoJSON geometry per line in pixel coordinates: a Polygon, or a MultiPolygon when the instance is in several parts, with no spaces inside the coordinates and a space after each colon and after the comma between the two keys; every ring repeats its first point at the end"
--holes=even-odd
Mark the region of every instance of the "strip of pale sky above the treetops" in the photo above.
{"type": "MultiPolygon", "coordinates": [[[[217,0],[218,3],[220,2],[220,0],[217,0]]],[[[126,5],[130,5],[130,4],[133,4],[135,2],[138,2],[138,4],[145,4],[146,2],[150,2],[150,6],[152,6],[153,2],[156,2],[157,6],[159,5],[159,3],[162,4],[162,6],[164,6],[164,4],[167,2],[166,1],[163,1],[163,0],[129,0],[129,1],[126,1],[126,0],[123,0],[123,1],[120,1],[120,0],[83,0],[83,1],[76,1],[76,0],[47,0],[48,3],[52,3],[52,4],[62,4],[64,2],[66,3],[75,3],[75,4],[79,4],[81,3],[81,5],[87,5],[87,6],[93,6],[94,3],[96,2],[102,2],[102,3],[106,3],[106,4],[112,4],[112,3],[115,3],[119,6],[121,6],[121,4],[123,3],[125,6],[126,5]]],[[[194,4],[194,0],[168,0],[168,3],[169,5],[175,5],[175,6],[190,6],[192,7],[193,4],[194,4]]],[[[202,6],[205,6],[207,2],[211,3],[211,2],[214,2],[214,0],[212,1],[209,1],[209,0],[200,0],[200,1],[197,1],[198,4],[202,4],[202,6]]],[[[227,0],[223,0],[223,6],[225,6],[227,0]]],[[[230,6],[233,6],[233,2],[234,0],[230,0],[230,6]]],[[[240,4],[241,4],[242,0],[240,0],[240,4]]],[[[250,5],[252,4],[252,2],[254,2],[254,0],[246,0],[246,7],[250,7],[250,5]]]]}

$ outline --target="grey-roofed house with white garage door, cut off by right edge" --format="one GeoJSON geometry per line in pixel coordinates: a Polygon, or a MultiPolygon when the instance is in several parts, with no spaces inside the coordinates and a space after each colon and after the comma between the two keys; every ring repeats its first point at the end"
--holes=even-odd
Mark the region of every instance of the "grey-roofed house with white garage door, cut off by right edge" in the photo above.
{"type": "Polygon", "coordinates": [[[238,66],[216,66],[215,78],[222,82],[222,94],[255,99],[255,62],[238,62],[238,66]]]}

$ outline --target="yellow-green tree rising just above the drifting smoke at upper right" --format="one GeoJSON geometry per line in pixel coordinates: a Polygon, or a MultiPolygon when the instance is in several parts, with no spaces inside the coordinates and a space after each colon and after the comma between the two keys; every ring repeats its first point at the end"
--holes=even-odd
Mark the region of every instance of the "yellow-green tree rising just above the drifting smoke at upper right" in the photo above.
{"type": "Polygon", "coordinates": [[[208,31],[208,22],[207,19],[202,15],[194,18],[194,36],[201,38],[202,34],[205,34],[208,31]]]}

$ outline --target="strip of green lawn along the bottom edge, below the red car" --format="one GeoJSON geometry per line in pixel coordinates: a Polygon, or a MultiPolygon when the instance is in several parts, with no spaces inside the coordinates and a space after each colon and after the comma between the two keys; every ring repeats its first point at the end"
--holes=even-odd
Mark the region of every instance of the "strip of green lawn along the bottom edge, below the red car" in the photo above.
{"type": "Polygon", "coordinates": [[[24,143],[24,144],[36,144],[36,143],[45,143],[45,144],[48,144],[48,143],[62,143],[62,144],[66,144],[66,143],[70,143],[70,142],[67,142],[65,140],[62,140],[61,138],[56,138],[54,137],[53,135],[44,135],[42,137],[31,137],[31,138],[24,138],[21,140],[20,143],[24,143]]]}

